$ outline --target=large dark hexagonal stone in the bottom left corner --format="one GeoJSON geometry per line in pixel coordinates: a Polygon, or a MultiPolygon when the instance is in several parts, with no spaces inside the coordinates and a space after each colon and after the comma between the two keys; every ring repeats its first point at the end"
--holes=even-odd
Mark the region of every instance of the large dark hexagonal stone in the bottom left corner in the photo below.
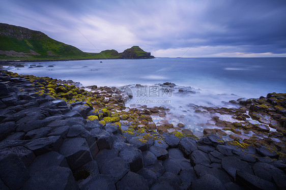
{"type": "Polygon", "coordinates": [[[16,154],[0,153],[0,178],[11,189],[19,189],[29,178],[27,168],[16,154]]]}

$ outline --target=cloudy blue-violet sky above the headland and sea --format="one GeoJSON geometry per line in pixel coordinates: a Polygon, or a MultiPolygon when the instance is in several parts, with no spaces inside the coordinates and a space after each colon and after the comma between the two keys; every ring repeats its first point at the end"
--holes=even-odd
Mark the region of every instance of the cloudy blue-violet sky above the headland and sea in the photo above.
{"type": "Polygon", "coordinates": [[[0,0],[0,22],[85,52],[137,45],[155,57],[286,57],[285,0],[0,0]]]}

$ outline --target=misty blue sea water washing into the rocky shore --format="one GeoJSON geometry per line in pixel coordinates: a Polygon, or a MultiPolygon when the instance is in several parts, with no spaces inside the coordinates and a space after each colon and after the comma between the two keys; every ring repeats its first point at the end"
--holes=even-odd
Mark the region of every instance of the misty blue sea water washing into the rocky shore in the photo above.
{"type": "MultiPolygon", "coordinates": [[[[165,106],[170,114],[164,119],[174,124],[183,122],[197,134],[202,132],[210,115],[198,116],[194,105],[234,107],[225,102],[286,92],[286,58],[73,60],[27,62],[24,68],[7,69],[18,74],[70,79],[83,86],[127,85],[133,93],[127,106],[165,106]],[[31,65],[43,67],[29,68],[31,65]],[[165,82],[176,86],[160,85],[165,82]]],[[[160,122],[162,118],[153,119],[160,122]]]]}

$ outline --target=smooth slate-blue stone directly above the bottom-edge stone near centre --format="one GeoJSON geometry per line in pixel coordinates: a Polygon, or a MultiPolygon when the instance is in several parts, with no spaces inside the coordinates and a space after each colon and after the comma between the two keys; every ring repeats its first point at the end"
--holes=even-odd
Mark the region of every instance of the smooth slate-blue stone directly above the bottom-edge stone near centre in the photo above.
{"type": "Polygon", "coordinates": [[[143,167],[142,152],[133,146],[123,148],[119,152],[119,157],[129,163],[130,171],[137,172],[143,167]]]}

